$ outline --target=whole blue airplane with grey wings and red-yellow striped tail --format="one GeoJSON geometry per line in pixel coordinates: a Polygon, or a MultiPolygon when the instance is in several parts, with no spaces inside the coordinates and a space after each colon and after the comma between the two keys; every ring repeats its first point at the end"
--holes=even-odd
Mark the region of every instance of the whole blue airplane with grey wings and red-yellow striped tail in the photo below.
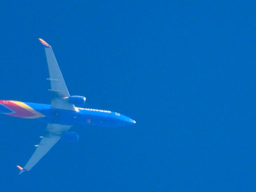
{"type": "Polygon", "coordinates": [[[86,98],[70,96],[52,47],[41,38],[39,41],[44,45],[46,52],[50,74],[50,78],[47,80],[50,81],[49,91],[52,93],[51,104],[0,100],[1,114],[16,118],[38,119],[47,123],[46,134],[40,136],[42,140],[35,145],[34,154],[24,167],[17,165],[20,170],[19,174],[31,170],[60,138],[73,142],[78,141],[79,136],[76,132],[68,132],[76,124],[104,127],[124,127],[136,124],[135,120],[118,112],[82,108],[86,98]]]}

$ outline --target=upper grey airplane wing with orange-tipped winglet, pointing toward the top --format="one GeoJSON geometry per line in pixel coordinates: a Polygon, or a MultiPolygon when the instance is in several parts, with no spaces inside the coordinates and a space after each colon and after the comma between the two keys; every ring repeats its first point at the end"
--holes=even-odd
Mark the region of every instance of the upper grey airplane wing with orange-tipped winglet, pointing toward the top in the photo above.
{"type": "Polygon", "coordinates": [[[69,97],[70,94],[58,66],[57,60],[54,56],[52,47],[44,40],[40,38],[39,40],[45,47],[46,59],[50,74],[50,78],[47,78],[47,80],[50,80],[51,82],[51,89],[49,89],[49,91],[53,93],[51,102],[52,108],[76,111],[73,104],[70,104],[66,99],[63,99],[65,97],[69,97]]]}

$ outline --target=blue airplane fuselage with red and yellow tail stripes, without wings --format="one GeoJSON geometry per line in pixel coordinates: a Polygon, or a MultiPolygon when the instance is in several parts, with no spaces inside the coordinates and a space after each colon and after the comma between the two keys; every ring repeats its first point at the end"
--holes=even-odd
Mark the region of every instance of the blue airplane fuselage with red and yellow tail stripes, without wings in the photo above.
{"type": "Polygon", "coordinates": [[[76,111],[51,108],[48,104],[0,100],[0,113],[17,118],[39,119],[47,123],[63,125],[90,125],[123,127],[136,124],[134,120],[117,112],[90,108],[76,111]]]}

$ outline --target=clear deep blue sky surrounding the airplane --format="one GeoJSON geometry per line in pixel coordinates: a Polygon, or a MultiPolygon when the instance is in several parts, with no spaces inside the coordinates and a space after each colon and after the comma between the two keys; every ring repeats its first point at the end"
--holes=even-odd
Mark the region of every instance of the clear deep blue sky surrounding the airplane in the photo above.
{"type": "Polygon", "coordinates": [[[135,119],[75,126],[18,175],[46,125],[0,116],[0,191],[255,191],[253,1],[1,6],[1,99],[50,103],[43,38],[69,92],[135,119]]]}

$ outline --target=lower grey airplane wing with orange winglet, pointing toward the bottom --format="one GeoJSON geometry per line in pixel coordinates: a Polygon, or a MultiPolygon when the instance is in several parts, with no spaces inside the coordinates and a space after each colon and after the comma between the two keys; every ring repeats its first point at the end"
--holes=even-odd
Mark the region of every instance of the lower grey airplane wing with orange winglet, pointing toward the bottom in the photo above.
{"type": "Polygon", "coordinates": [[[36,145],[36,151],[28,160],[24,168],[17,166],[20,169],[20,173],[29,171],[32,167],[60,140],[61,134],[66,132],[72,125],[60,125],[60,124],[48,124],[48,134],[43,136],[41,142],[36,145]]]}

